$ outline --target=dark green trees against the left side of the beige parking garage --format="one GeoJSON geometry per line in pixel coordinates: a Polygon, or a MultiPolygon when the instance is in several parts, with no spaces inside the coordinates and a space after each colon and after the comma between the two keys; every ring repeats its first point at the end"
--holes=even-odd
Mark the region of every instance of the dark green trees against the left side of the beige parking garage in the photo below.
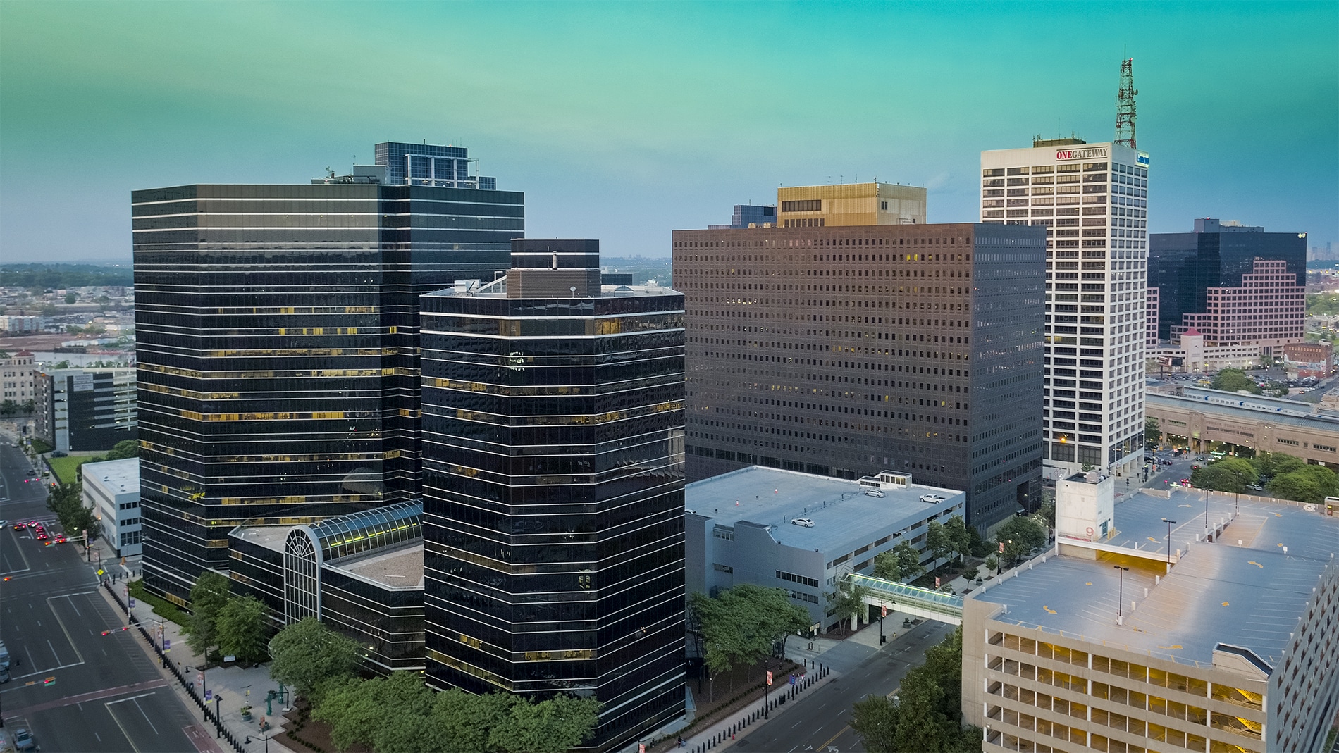
{"type": "Polygon", "coordinates": [[[870,753],[960,753],[981,749],[981,729],[963,726],[963,629],[925,651],[896,697],[870,695],[850,728],[870,753]]]}

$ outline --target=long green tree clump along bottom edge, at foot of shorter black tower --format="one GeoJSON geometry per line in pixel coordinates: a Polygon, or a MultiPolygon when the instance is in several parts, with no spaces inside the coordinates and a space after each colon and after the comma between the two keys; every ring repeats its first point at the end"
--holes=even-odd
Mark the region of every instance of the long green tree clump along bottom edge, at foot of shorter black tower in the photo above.
{"type": "Polygon", "coordinates": [[[595,698],[532,701],[510,693],[434,693],[419,673],[349,678],[332,686],[312,718],[331,725],[339,750],[364,745],[395,753],[564,753],[589,740],[595,698]]]}

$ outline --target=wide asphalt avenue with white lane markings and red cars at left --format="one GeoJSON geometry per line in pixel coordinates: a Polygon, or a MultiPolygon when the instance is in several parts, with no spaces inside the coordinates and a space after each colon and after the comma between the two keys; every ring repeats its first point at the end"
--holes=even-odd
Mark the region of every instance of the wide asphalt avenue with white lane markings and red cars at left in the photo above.
{"type": "MultiPolygon", "coordinates": [[[[96,564],[78,544],[43,546],[16,520],[51,520],[46,490],[27,481],[28,460],[0,444],[0,639],[9,682],[0,716],[28,728],[44,752],[197,750],[194,718],[98,593],[96,564]],[[104,630],[112,633],[103,635],[104,630]]],[[[48,531],[51,527],[48,526],[48,531]]],[[[48,539],[50,540],[50,539],[48,539]]]]}

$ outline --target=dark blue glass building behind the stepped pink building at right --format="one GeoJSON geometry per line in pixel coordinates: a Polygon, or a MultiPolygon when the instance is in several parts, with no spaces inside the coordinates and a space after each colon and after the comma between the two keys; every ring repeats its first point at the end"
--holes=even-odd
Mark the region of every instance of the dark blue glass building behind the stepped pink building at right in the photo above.
{"type": "Polygon", "coordinates": [[[1158,338],[1172,337],[1184,314],[1209,310],[1210,288],[1241,288],[1255,259],[1287,262],[1297,285],[1307,280],[1307,234],[1197,218],[1193,233],[1149,235],[1149,288],[1158,289],[1158,338]]]}

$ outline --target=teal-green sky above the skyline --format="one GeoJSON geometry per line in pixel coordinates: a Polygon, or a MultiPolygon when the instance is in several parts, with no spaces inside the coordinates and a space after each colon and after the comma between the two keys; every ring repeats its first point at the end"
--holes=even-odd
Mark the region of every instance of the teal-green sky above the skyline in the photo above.
{"type": "Polygon", "coordinates": [[[130,255],[130,191],[470,147],[528,234],[668,255],[778,185],[928,186],[1113,138],[1134,58],[1152,231],[1339,242],[1339,3],[0,1],[0,255],[130,255]]]}

